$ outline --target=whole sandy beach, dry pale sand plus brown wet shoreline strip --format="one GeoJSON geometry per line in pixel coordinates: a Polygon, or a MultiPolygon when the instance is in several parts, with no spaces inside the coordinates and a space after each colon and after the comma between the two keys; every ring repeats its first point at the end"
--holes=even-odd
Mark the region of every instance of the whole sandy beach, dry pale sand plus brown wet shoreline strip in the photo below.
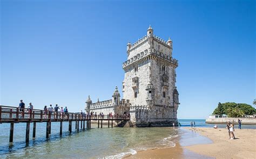
{"type": "Polygon", "coordinates": [[[255,129],[235,129],[235,140],[228,139],[227,130],[224,128],[190,128],[192,131],[203,135],[213,141],[210,144],[193,144],[165,149],[140,151],[127,158],[256,158],[255,129]]]}

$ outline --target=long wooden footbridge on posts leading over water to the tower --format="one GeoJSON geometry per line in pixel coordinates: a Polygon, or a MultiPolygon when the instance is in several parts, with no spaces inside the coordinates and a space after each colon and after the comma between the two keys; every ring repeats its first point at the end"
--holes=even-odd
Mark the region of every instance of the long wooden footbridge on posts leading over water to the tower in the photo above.
{"type": "Polygon", "coordinates": [[[9,142],[14,141],[14,124],[19,122],[26,122],[26,136],[25,141],[29,142],[29,133],[30,133],[30,123],[33,122],[33,134],[32,138],[36,138],[36,123],[37,122],[46,122],[46,139],[49,139],[49,134],[51,134],[51,122],[59,122],[59,135],[62,135],[62,123],[63,121],[69,122],[69,132],[72,132],[72,121],[76,121],[76,131],[79,131],[79,122],[80,129],[85,130],[85,121],[86,128],[91,128],[91,120],[98,121],[98,128],[102,128],[102,122],[108,121],[108,127],[113,127],[113,121],[128,121],[130,120],[127,116],[123,115],[87,115],[80,113],[65,113],[65,112],[55,112],[55,111],[44,111],[44,110],[29,110],[24,109],[21,111],[18,107],[12,106],[3,106],[0,105],[0,124],[10,123],[10,137],[9,142]],[[100,126],[99,126],[100,122],[100,126]]]}

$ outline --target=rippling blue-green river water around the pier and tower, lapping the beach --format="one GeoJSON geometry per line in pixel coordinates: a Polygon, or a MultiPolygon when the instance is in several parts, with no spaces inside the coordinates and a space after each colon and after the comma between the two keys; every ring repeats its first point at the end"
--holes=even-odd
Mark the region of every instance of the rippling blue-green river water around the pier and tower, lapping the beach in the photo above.
{"type": "MultiPolygon", "coordinates": [[[[196,122],[196,127],[213,127],[212,124],[205,124],[205,120],[179,120],[182,126],[190,126],[191,121],[196,122]]],[[[97,125],[77,133],[73,122],[73,132],[69,134],[68,122],[63,122],[63,135],[60,137],[59,122],[52,122],[51,136],[46,140],[46,123],[37,123],[36,139],[32,140],[31,124],[30,142],[26,144],[26,124],[19,123],[14,127],[14,143],[9,144],[10,124],[0,124],[0,157],[120,158],[126,154],[136,154],[140,150],[174,147],[178,141],[181,146],[197,144],[198,141],[211,142],[197,133],[173,127],[106,128],[106,125],[103,126],[105,128],[93,127],[97,125]]],[[[256,128],[256,126],[248,126],[248,128],[256,128]]]]}

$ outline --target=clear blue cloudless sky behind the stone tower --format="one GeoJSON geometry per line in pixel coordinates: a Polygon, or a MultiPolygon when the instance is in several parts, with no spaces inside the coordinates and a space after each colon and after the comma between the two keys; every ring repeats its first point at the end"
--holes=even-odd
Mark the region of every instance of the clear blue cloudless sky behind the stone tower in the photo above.
{"type": "Polygon", "coordinates": [[[154,34],[179,60],[178,118],[204,119],[218,102],[252,105],[255,1],[1,1],[1,101],[84,110],[111,99],[126,44],[154,34]]]}

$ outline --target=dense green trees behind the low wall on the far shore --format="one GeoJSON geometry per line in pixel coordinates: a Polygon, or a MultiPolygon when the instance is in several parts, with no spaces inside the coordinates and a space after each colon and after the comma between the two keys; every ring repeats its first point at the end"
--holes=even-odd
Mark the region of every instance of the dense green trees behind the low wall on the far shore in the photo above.
{"type": "MultiPolygon", "coordinates": [[[[255,103],[255,100],[253,102],[255,103]]],[[[223,115],[226,114],[229,118],[241,118],[244,115],[256,114],[256,109],[251,105],[245,103],[218,103],[217,108],[213,111],[213,114],[223,115]]]]}

